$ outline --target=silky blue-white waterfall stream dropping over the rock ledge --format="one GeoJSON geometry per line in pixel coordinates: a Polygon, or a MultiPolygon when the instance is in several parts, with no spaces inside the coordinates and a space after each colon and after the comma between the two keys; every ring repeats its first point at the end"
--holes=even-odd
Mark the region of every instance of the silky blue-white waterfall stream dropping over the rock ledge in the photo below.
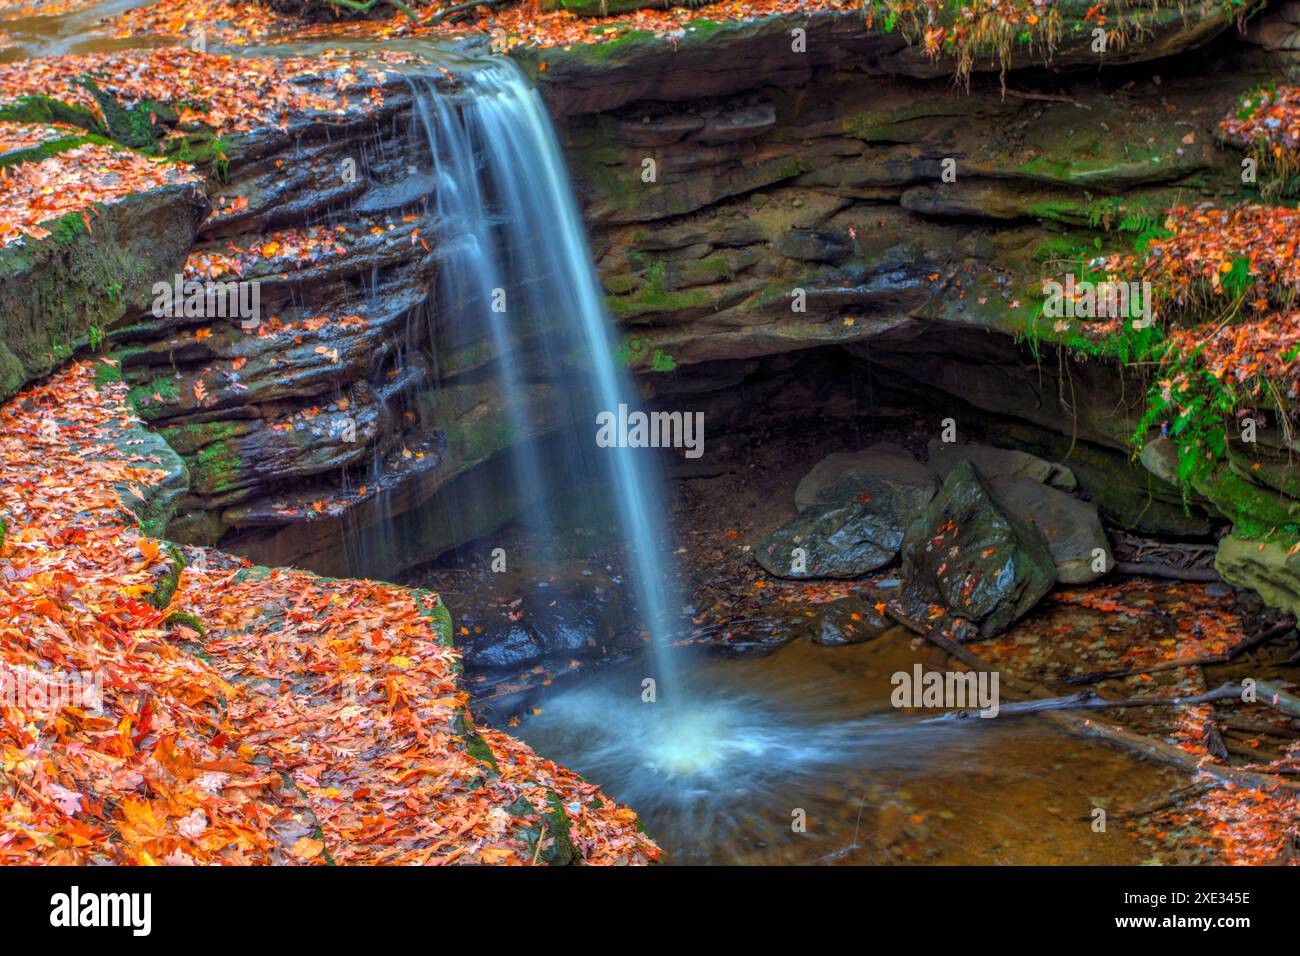
{"type": "Polygon", "coordinates": [[[628,554],[628,576],[651,636],[660,691],[675,682],[670,662],[673,579],[663,551],[666,503],[654,451],[597,447],[597,414],[637,405],[630,375],[615,359],[586,232],[541,96],[510,60],[494,57],[463,75],[448,95],[412,78],[416,134],[428,142],[432,203],[442,259],[439,321],[486,329],[494,385],[511,433],[543,431],[529,386],[563,390],[563,468],[547,467],[538,442],[516,441],[520,498],[543,535],[555,531],[551,502],[578,476],[608,486],[628,554]],[[575,388],[568,388],[576,384],[575,388]]]}

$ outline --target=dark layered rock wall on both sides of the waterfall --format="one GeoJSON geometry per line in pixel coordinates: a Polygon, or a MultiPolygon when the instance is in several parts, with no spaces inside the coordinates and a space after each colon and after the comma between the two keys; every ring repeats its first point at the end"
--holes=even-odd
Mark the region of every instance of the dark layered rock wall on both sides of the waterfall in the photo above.
{"type": "MultiPolygon", "coordinates": [[[[1288,514],[1284,455],[1254,468],[1251,449],[1190,494],[1132,464],[1145,381],[1056,351],[1061,337],[1035,319],[1044,276],[1128,242],[1174,198],[1239,187],[1214,122],[1271,62],[1228,40],[1196,51],[1222,10],[1164,9],[1106,56],[1122,68],[1178,52],[1161,82],[1150,68],[1101,83],[1071,72],[1095,61],[1083,13],[1062,8],[1058,73],[1028,69],[1041,51],[1015,51],[1005,88],[980,72],[993,61],[954,88],[952,64],[855,14],[515,51],[559,121],[620,354],[647,397],[707,407],[711,427],[744,427],[758,408],[820,414],[840,397],[801,380],[800,356],[835,352],[866,369],[871,395],[940,410],[962,440],[1061,462],[1052,480],[1072,475],[1126,527],[1204,536],[1243,501],[1265,503],[1260,522],[1288,514]]],[[[411,95],[395,75],[380,92],[373,109],[234,137],[220,169],[211,137],[187,140],[209,157],[217,211],[195,263],[239,250],[274,321],[140,316],[113,333],[136,407],[194,475],[176,537],[342,572],[355,531],[408,514],[372,568],[395,574],[524,505],[504,493],[502,453],[558,420],[512,433],[481,375],[485,330],[438,315],[411,95]],[[337,250],[260,255],[311,229],[332,230],[337,250]],[[473,496],[467,520],[437,516],[430,502],[471,486],[500,494],[473,496]]],[[[1283,449],[1271,432],[1264,445],[1283,449]]]]}

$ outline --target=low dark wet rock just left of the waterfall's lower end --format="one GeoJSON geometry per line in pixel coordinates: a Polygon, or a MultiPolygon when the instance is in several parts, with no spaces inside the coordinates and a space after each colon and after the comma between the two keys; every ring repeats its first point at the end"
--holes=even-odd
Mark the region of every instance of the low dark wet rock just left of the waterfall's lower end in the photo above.
{"type": "Polygon", "coordinates": [[[521,567],[488,575],[486,587],[464,597],[458,631],[465,666],[520,671],[537,665],[601,659],[638,645],[628,635],[614,581],[593,570],[521,567]]]}

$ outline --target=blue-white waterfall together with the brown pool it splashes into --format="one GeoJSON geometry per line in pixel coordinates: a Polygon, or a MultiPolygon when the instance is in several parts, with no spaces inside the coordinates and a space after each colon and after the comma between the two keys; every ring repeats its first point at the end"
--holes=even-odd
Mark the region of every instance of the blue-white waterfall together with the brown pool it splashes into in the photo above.
{"type": "MultiPolygon", "coordinates": [[[[906,635],[831,656],[798,640],[771,658],[745,662],[685,652],[688,672],[675,674],[677,604],[663,550],[662,481],[653,453],[597,447],[597,414],[633,406],[633,389],[615,362],[611,324],[542,101],[503,59],[465,72],[459,90],[411,82],[415,134],[428,144],[432,168],[442,267],[438,332],[491,347],[491,360],[477,372],[490,377],[493,401],[504,406],[514,480],[533,492],[526,497],[534,527],[543,535],[556,529],[555,502],[578,479],[612,492],[642,623],[653,636],[653,705],[642,696],[644,665],[624,662],[550,693],[516,732],[632,804],[680,861],[733,853],[759,862],[910,861],[911,847],[896,845],[900,821],[922,827],[931,812],[970,821],[965,829],[952,825],[937,861],[968,861],[963,848],[989,830],[1020,840],[1019,830],[1008,832],[1009,821],[1018,825],[998,808],[1006,792],[1045,779],[1027,761],[1050,748],[1031,740],[1010,750],[1010,735],[997,743],[991,731],[972,734],[957,723],[900,721],[889,706],[888,675],[916,659],[906,635]],[[563,403],[562,414],[543,415],[554,408],[540,408],[540,394],[563,403]],[[529,440],[556,427],[559,464],[529,440]],[[1000,775],[1002,766],[1019,775],[1000,775]],[[972,786],[968,812],[948,810],[953,793],[972,786]],[[792,808],[811,821],[806,834],[792,830],[792,808]],[[896,849],[904,856],[890,856],[896,849]]],[[[1110,770],[1131,773],[1127,763],[1110,770]]],[[[1079,787],[1089,780],[1084,775],[1079,787]]],[[[1088,805],[1088,792],[1075,795],[1079,805],[1088,805]]],[[[1034,826],[1054,821],[1044,812],[1034,826]]],[[[1063,839],[1063,831],[1052,834],[1053,842],[1063,839]]]]}

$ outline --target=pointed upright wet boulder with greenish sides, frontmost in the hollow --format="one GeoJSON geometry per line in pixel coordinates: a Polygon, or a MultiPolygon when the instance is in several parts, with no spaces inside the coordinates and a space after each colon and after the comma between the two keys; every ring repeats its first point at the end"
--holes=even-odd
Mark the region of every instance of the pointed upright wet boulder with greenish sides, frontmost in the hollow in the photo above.
{"type": "Polygon", "coordinates": [[[963,639],[993,637],[1056,581],[1043,536],[1002,509],[970,462],[958,463],[902,542],[900,602],[916,622],[950,615],[963,639]]]}

